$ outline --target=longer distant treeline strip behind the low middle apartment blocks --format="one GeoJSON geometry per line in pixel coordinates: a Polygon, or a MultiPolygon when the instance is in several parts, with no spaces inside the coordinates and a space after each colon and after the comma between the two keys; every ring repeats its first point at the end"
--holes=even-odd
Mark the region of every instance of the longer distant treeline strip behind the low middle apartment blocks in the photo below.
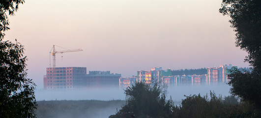
{"type": "Polygon", "coordinates": [[[179,69],[179,70],[172,70],[172,75],[203,75],[206,74],[206,68],[199,68],[199,69],[179,69]]]}

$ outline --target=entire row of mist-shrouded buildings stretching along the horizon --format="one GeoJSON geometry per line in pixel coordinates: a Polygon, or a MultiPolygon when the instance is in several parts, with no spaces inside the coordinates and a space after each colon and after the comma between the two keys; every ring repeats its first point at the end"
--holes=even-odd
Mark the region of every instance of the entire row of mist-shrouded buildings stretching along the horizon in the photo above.
{"type": "Polygon", "coordinates": [[[121,77],[121,74],[110,73],[110,71],[89,71],[87,74],[86,67],[50,67],[46,68],[43,79],[45,90],[125,89],[134,85],[135,82],[157,83],[167,87],[211,86],[228,83],[227,74],[232,67],[237,68],[231,64],[209,67],[203,75],[174,75],[171,69],[163,70],[162,67],[155,67],[148,71],[137,71],[137,76],[128,78],[121,77]]]}

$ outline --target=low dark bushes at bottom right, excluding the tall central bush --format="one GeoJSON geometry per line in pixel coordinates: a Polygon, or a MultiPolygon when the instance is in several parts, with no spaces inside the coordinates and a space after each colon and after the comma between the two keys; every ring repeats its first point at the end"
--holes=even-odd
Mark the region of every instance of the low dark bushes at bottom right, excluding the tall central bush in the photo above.
{"type": "Polygon", "coordinates": [[[222,99],[210,91],[207,95],[189,95],[175,109],[175,118],[260,118],[260,112],[247,102],[238,103],[238,99],[228,96],[222,99]]]}

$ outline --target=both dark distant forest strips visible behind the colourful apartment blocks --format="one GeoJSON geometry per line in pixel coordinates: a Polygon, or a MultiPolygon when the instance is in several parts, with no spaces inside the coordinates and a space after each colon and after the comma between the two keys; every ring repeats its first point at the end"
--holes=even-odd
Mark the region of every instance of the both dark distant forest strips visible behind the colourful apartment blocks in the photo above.
{"type": "MultiPolygon", "coordinates": [[[[251,72],[252,70],[249,67],[240,67],[238,68],[239,71],[241,72],[245,72],[245,71],[249,71],[251,72]]],[[[179,70],[172,70],[172,75],[203,75],[206,74],[206,68],[199,68],[199,69],[179,69],[179,70]]]]}

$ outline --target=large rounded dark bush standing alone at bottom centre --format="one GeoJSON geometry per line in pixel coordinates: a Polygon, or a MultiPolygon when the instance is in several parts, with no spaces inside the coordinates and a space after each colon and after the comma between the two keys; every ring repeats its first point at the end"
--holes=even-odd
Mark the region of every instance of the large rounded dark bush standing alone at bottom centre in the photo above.
{"type": "Polygon", "coordinates": [[[136,82],[125,89],[126,105],[116,115],[109,118],[170,118],[174,103],[166,103],[165,94],[157,84],[153,86],[144,82],[136,82]]]}

